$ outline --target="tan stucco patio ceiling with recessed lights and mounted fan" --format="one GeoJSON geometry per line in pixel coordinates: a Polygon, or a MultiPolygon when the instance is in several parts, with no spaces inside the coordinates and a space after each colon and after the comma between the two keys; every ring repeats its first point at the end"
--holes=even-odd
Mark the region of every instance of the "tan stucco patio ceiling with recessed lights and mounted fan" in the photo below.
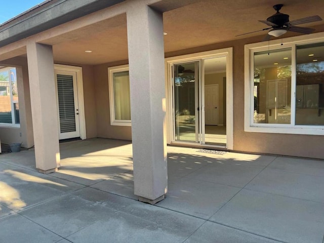
{"type": "MultiPolygon", "coordinates": [[[[284,4],[281,13],[290,20],[319,15],[324,19],[323,0],[204,0],[164,13],[165,52],[205,46],[234,39],[259,36],[267,31],[247,35],[238,34],[261,30],[275,13],[275,4],[284,4]]],[[[324,21],[298,25],[322,30],[324,21]]],[[[140,33],[139,33],[140,34],[140,33]]],[[[299,35],[289,32],[282,37],[299,35]]],[[[53,45],[56,62],[101,64],[128,59],[126,15],[102,21],[82,29],[47,39],[53,45]],[[91,50],[92,53],[85,53],[91,50]]]]}

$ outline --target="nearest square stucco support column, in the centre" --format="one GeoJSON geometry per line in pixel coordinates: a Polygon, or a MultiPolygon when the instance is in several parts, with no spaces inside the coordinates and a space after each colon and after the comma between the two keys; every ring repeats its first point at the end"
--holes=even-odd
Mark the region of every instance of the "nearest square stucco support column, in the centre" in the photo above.
{"type": "Polygon", "coordinates": [[[163,15],[142,1],[127,7],[134,193],[155,204],[168,188],[163,15]]]}

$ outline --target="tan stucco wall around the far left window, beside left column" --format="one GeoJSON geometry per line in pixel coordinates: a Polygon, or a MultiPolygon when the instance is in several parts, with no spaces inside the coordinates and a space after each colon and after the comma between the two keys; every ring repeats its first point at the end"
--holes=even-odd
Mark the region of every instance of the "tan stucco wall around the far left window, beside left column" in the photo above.
{"type": "Polygon", "coordinates": [[[11,144],[22,142],[22,147],[32,147],[34,143],[27,59],[24,57],[16,57],[3,61],[1,65],[16,67],[20,117],[20,128],[0,127],[1,143],[11,144]]]}

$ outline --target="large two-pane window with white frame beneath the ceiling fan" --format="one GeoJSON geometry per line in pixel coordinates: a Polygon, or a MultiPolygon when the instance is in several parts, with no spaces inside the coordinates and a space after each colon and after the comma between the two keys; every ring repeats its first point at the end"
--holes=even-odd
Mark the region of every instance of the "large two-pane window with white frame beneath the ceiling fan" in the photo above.
{"type": "Polygon", "coordinates": [[[245,131],[324,135],[321,39],[246,46],[245,131]]]}

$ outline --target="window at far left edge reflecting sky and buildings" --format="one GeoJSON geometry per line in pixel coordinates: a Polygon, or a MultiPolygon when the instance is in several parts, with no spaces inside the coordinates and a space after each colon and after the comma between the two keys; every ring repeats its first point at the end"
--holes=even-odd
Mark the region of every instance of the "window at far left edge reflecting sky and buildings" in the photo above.
{"type": "Polygon", "coordinates": [[[19,127],[16,68],[0,69],[0,125],[19,127]]]}

